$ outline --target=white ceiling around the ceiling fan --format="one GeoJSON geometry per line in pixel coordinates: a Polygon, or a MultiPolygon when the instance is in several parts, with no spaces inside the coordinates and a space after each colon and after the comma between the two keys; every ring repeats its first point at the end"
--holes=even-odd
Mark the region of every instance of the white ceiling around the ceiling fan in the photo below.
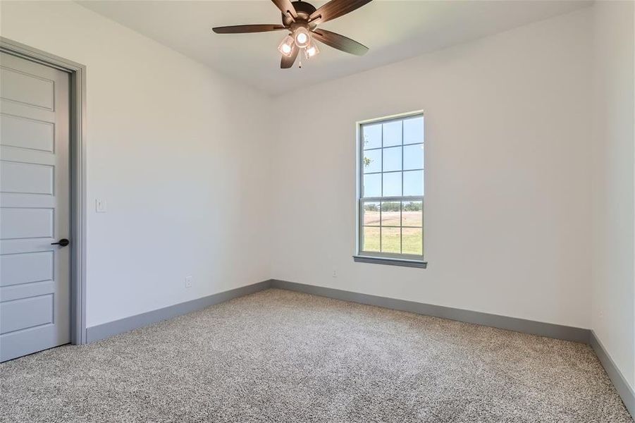
{"type": "MultiPolygon", "coordinates": [[[[590,1],[375,0],[321,27],[370,48],[352,56],[323,46],[302,69],[280,69],[285,32],[218,35],[211,27],[280,23],[271,1],[80,1],[82,6],[268,94],[376,68],[512,27],[574,11],[590,1]]],[[[316,7],[325,1],[315,1],[316,7]]]]}

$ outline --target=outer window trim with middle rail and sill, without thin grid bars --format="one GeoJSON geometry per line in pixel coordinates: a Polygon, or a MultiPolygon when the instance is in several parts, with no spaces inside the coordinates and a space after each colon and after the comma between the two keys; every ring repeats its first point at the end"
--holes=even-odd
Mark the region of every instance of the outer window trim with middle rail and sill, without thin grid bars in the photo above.
{"type": "MultiPolygon", "coordinates": [[[[365,263],[374,263],[374,264],[392,264],[395,266],[409,266],[409,267],[419,267],[426,268],[427,262],[424,261],[424,256],[419,255],[405,255],[405,254],[396,254],[396,253],[388,253],[388,252],[363,252],[362,251],[362,235],[363,235],[363,222],[362,222],[362,200],[368,202],[381,198],[381,200],[386,201],[390,199],[395,199],[395,201],[402,201],[404,198],[408,198],[408,196],[396,196],[396,197],[369,197],[362,199],[362,184],[364,178],[364,169],[362,168],[362,154],[363,154],[363,143],[362,143],[362,125],[367,123],[378,123],[378,122],[386,122],[393,120],[402,120],[405,118],[409,118],[412,116],[425,116],[424,111],[411,111],[403,114],[396,114],[391,116],[384,116],[382,118],[374,118],[367,119],[365,121],[358,121],[356,123],[355,130],[355,255],[353,255],[353,259],[355,262],[365,262],[365,263]]],[[[425,131],[425,121],[424,121],[424,131],[425,131]]],[[[424,136],[424,146],[426,145],[426,140],[424,136]]],[[[425,147],[424,147],[425,148],[425,147]]],[[[425,154],[424,154],[425,157],[425,154]]],[[[425,183],[426,183],[426,171],[424,164],[424,195],[425,195],[425,183]]],[[[425,226],[425,201],[424,195],[422,196],[412,196],[410,197],[413,201],[421,201],[421,214],[422,214],[422,222],[421,229],[425,226]]],[[[425,232],[422,232],[421,237],[421,251],[424,252],[424,244],[425,244],[425,232]]]]}

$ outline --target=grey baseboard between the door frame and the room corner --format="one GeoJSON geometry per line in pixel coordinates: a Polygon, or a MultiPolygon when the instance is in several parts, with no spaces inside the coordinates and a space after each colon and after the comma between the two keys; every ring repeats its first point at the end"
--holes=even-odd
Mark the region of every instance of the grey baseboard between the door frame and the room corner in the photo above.
{"type": "Polygon", "coordinates": [[[109,321],[108,323],[91,326],[87,329],[87,342],[92,343],[94,341],[99,341],[100,339],[110,338],[111,336],[118,335],[119,333],[132,331],[133,329],[148,326],[149,324],[153,324],[161,320],[172,319],[173,317],[177,317],[182,314],[191,313],[196,310],[209,307],[210,305],[218,304],[219,302],[225,302],[227,300],[231,300],[232,298],[256,293],[267,288],[271,288],[271,281],[254,283],[252,285],[227,290],[222,293],[197,298],[196,300],[180,302],[179,304],[171,305],[169,307],[152,310],[152,312],[136,314],[135,316],[125,317],[125,319],[109,321]]]}

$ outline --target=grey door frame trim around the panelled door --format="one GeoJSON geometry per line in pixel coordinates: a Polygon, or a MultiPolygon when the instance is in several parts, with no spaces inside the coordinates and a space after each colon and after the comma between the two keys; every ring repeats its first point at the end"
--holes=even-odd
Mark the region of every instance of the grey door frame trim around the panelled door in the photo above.
{"type": "Polygon", "coordinates": [[[86,338],[86,66],[0,37],[0,51],[70,75],[70,343],[86,338]]]}

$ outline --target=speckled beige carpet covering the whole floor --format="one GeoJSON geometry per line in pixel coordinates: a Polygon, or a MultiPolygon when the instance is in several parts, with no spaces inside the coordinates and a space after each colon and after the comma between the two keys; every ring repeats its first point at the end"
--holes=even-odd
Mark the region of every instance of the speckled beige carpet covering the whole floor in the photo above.
{"type": "Polygon", "coordinates": [[[588,345],[277,289],[0,378],[2,422],[632,422],[588,345]]]}

